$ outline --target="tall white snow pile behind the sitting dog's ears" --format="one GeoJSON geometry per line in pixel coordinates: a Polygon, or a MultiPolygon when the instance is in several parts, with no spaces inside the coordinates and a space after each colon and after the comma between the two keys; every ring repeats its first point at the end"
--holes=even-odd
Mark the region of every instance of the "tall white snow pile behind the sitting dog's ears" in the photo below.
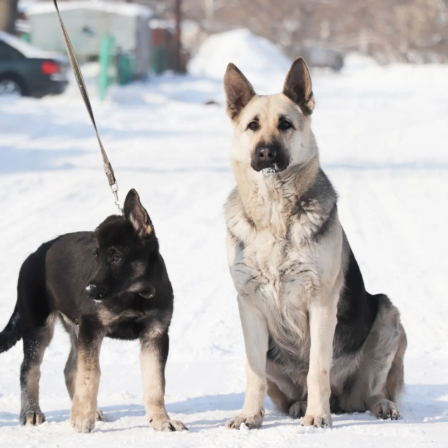
{"type": "Polygon", "coordinates": [[[188,70],[197,76],[222,79],[229,62],[233,62],[255,88],[261,89],[277,79],[284,80],[291,65],[274,43],[247,29],[237,29],[211,35],[190,61],[188,70]]]}

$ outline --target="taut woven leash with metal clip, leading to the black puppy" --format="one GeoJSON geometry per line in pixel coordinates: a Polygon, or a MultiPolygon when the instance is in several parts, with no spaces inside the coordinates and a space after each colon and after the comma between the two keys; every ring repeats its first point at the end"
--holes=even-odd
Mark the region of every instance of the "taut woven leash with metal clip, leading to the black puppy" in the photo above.
{"type": "Polygon", "coordinates": [[[123,203],[118,200],[118,183],[115,179],[115,175],[113,173],[112,165],[109,162],[108,155],[106,151],[104,151],[103,143],[99,138],[98,129],[96,129],[95,118],[93,116],[92,106],[90,105],[89,94],[87,93],[86,83],[84,82],[84,78],[82,78],[81,69],[79,68],[78,60],[76,59],[75,51],[73,50],[72,43],[69,39],[69,34],[67,34],[67,30],[65,29],[64,22],[62,22],[62,18],[60,17],[59,9],[57,7],[56,0],[53,0],[53,3],[56,8],[56,13],[59,17],[60,26],[62,28],[62,34],[64,34],[65,47],[67,48],[67,54],[69,56],[70,65],[72,66],[73,73],[75,74],[76,81],[78,82],[79,91],[81,92],[82,99],[84,100],[84,104],[86,105],[87,112],[89,112],[90,120],[92,121],[92,125],[95,128],[96,138],[98,138],[99,149],[101,151],[101,157],[103,158],[103,168],[106,176],[108,178],[109,185],[111,187],[112,193],[115,198],[115,205],[118,207],[118,210],[121,214],[123,214],[123,203]]]}

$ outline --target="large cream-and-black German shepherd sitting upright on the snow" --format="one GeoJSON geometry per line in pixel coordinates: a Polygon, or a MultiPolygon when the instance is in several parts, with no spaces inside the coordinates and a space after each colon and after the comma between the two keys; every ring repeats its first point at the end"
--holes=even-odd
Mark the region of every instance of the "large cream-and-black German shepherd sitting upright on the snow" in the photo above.
{"type": "Polygon", "coordinates": [[[237,181],[225,205],[228,263],[247,371],[242,414],[227,426],[258,428],[266,393],[302,425],[331,426],[331,412],[399,418],[405,331],[388,297],[366,292],[339,222],[305,61],[268,96],[229,64],[224,90],[237,181]]]}

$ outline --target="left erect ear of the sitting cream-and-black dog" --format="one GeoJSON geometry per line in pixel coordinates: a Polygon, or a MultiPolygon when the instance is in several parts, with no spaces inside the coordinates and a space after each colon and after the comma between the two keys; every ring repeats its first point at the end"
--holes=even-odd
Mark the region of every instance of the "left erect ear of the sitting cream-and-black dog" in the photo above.
{"type": "Polygon", "coordinates": [[[224,91],[227,115],[235,120],[241,110],[255,96],[255,91],[238,67],[232,63],[224,75],[224,91]]]}

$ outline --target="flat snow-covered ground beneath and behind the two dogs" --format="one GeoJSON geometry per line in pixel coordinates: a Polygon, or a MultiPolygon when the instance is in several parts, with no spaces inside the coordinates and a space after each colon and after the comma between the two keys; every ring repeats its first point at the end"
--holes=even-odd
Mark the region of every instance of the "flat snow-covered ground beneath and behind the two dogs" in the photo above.
{"type": "MultiPolygon", "coordinates": [[[[218,73],[199,62],[195,75],[152,78],[111,90],[104,103],[93,100],[121,199],[130,188],[139,192],[175,289],[166,401],[190,431],[147,426],[138,343],[106,340],[98,401],[107,422],[90,435],[74,433],[63,379],[68,337],[58,327],[42,365],[47,422],[39,427],[18,423],[22,343],[0,355],[0,446],[446,446],[448,67],[381,68],[352,57],[339,75],[312,73],[313,129],[340,195],[340,219],[367,289],[388,293],[408,334],[402,419],[345,414],[333,417],[331,430],[305,429],[267,400],[260,430],[229,431],[224,422],[241,409],[246,383],[222,211],[234,184],[232,130],[218,73]],[[208,99],[219,104],[204,105],[208,99]]],[[[233,62],[249,78],[258,70],[260,93],[279,91],[288,69],[277,60],[273,74],[263,63],[254,70],[244,52],[233,62]]],[[[76,87],[59,97],[0,100],[0,210],[3,328],[26,256],[115,212],[76,87]]]]}

